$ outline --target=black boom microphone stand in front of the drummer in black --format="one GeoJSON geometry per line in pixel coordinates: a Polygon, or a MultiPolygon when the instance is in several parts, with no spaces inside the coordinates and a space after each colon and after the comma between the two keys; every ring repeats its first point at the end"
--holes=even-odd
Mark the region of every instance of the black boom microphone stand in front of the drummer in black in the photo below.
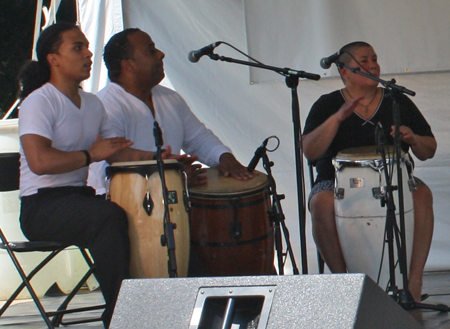
{"type": "MultiPolygon", "coordinates": [[[[425,303],[416,303],[412,298],[411,292],[408,289],[408,268],[407,268],[407,257],[406,257],[406,236],[405,236],[405,210],[404,210],[404,199],[403,199],[403,176],[402,176],[402,168],[400,164],[401,159],[401,140],[400,140],[400,107],[398,103],[398,96],[401,93],[408,94],[410,96],[415,96],[416,93],[412,90],[409,90],[405,87],[399,86],[396,84],[395,79],[391,81],[386,81],[380,78],[373,76],[372,74],[362,72],[361,69],[349,67],[341,62],[336,62],[336,66],[338,68],[345,68],[350,70],[353,73],[365,76],[369,79],[378,81],[383,86],[391,91],[392,97],[392,116],[394,123],[394,162],[396,164],[397,169],[397,189],[398,189],[398,205],[399,205],[399,223],[400,223],[400,232],[398,232],[398,226],[395,218],[395,203],[393,199],[392,191],[394,187],[392,187],[389,183],[388,174],[386,175],[386,184],[387,186],[387,215],[386,215],[386,230],[387,230],[387,242],[389,246],[388,255],[389,255],[389,288],[388,294],[391,295],[394,300],[399,303],[404,309],[410,310],[413,308],[423,308],[430,310],[438,310],[441,312],[450,312],[450,308],[446,305],[431,305],[425,303]],[[399,256],[399,265],[400,272],[402,273],[403,280],[403,289],[398,290],[395,283],[395,265],[394,265],[394,231],[395,237],[397,238],[397,246],[398,246],[398,256],[399,256]],[[399,233],[399,234],[398,234],[399,233]]],[[[386,168],[386,159],[384,154],[384,149],[381,146],[382,158],[384,162],[384,168],[386,168]]]]}

